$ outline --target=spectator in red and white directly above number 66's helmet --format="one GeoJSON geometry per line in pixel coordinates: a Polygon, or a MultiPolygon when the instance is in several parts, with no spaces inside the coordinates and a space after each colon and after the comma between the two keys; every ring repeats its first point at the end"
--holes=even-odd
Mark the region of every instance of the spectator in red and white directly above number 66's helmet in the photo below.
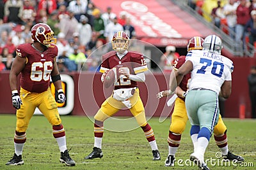
{"type": "Polygon", "coordinates": [[[26,25],[28,22],[33,22],[35,24],[36,10],[32,5],[30,0],[24,0],[23,10],[22,10],[22,25],[26,25]]]}

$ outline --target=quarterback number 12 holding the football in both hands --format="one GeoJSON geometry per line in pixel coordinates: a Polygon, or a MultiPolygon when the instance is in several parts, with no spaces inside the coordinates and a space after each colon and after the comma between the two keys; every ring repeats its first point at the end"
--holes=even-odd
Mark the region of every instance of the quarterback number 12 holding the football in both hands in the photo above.
{"type": "MultiPolygon", "coordinates": [[[[103,157],[102,136],[104,132],[103,122],[115,115],[117,111],[126,107],[136,118],[138,125],[145,132],[145,137],[151,146],[153,160],[160,160],[159,150],[153,129],[145,118],[145,109],[140,98],[138,83],[145,81],[144,71],[147,71],[147,63],[141,53],[128,52],[129,36],[124,31],[118,31],[112,38],[113,50],[102,56],[100,72],[103,73],[101,80],[108,81],[106,75],[109,69],[115,73],[115,88],[113,95],[102,103],[94,119],[94,147],[92,153],[85,159],[95,159],[103,157]]],[[[113,78],[113,77],[111,77],[113,78]]]]}

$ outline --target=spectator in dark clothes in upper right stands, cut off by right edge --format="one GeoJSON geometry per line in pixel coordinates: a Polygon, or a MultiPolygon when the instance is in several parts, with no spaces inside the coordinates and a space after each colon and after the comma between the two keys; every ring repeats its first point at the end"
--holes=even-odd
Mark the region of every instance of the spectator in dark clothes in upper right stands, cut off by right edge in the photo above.
{"type": "MultiPolygon", "coordinates": [[[[248,32],[249,43],[254,46],[254,42],[256,41],[256,10],[251,11],[252,18],[248,20],[244,27],[244,31],[248,32]]],[[[249,46],[250,51],[254,50],[252,46],[249,46]]]]}

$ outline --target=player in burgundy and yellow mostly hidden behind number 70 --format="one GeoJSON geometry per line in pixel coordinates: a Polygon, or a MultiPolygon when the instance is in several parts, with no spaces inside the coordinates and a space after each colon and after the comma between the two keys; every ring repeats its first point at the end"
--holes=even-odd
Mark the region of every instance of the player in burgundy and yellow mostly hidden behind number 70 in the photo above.
{"type": "MultiPolygon", "coordinates": [[[[202,43],[204,39],[199,36],[195,36],[189,40],[188,52],[191,50],[202,50],[202,43]]],[[[173,69],[179,69],[182,64],[186,61],[186,56],[180,56],[173,64],[173,69]]],[[[171,125],[169,129],[168,145],[169,154],[165,161],[165,166],[174,166],[175,163],[175,153],[180,145],[181,134],[184,132],[186,123],[188,122],[188,115],[185,106],[185,97],[188,92],[189,81],[191,80],[190,73],[186,74],[180,85],[177,87],[177,99],[175,100],[174,110],[172,113],[171,125]]],[[[170,96],[169,90],[159,92],[157,97],[160,99],[164,96],[170,96]]],[[[216,145],[220,148],[223,155],[223,159],[227,160],[237,160],[242,162],[244,159],[241,156],[234,155],[228,150],[227,143],[227,127],[223,123],[221,115],[219,115],[218,124],[214,127],[214,139],[216,145]]]]}

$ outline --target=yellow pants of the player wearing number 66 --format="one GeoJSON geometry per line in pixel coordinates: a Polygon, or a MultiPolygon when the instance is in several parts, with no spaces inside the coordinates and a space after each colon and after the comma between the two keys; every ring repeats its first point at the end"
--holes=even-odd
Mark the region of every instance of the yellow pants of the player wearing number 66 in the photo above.
{"type": "Polygon", "coordinates": [[[20,99],[22,105],[16,112],[16,131],[26,132],[29,120],[33,116],[36,107],[44,114],[51,125],[60,125],[61,119],[54,97],[50,88],[42,93],[31,93],[25,89],[20,89],[20,99]]]}

